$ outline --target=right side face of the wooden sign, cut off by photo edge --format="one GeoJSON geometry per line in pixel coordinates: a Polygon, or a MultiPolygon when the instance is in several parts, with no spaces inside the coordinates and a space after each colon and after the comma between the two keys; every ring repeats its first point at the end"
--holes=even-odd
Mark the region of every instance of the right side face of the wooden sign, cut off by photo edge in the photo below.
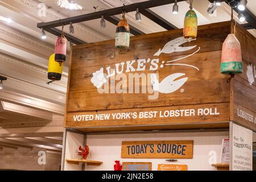
{"type": "Polygon", "coordinates": [[[256,38],[241,28],[236,37],[242,48],[243,73],[231,81],[230,120],[256,131],[256,38]]]}

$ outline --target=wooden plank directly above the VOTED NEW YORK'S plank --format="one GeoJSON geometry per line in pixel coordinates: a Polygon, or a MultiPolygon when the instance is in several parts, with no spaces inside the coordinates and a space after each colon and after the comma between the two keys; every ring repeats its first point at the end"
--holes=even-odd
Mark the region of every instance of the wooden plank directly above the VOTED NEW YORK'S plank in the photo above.
{"type": "Polygon", "coordinates": [[[159,93],[157,100],[148,100],[148,96],[152,95],[154,94],[98,94],[97,90],[69,92],[67,111],[229,102],[229,83],[226,78],[188,81],[174,93],[159,93]]]}

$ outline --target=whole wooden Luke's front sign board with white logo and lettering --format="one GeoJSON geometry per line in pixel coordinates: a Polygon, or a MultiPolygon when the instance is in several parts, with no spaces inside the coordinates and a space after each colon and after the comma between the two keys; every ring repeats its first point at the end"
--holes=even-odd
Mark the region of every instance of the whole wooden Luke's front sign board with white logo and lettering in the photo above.
{"type": "MultiPolygon", "coordinates": [[[[114,40],[73,46],[65,127],[86,132],[189,129],[195,123],[197,129],[228,127],[233,87],[230,76],[220,73],[220,60],[229,33],[230,22],[222,22],[199,26],[191,42],[182,29],[131,36],[126,53],[114,48],[114,40]]],[[[245,68],[255,65],[255,39],[239,25],[236,34],[245,68]]],[[[253,104],[246,109],[256,113],[253,104]]]]}

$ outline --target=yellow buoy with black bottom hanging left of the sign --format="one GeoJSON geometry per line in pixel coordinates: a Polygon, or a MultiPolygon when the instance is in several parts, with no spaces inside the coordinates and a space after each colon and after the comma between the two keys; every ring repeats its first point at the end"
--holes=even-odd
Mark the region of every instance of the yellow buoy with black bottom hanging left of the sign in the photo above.
{"type": "Polygon", "coordinates": [[[61,74],[63,70],[63,63],[61,65],[55,61],[55,54],[49,57],[49,65],[48,65],[48,79],[52,81],[61,80],[61,74]]]}

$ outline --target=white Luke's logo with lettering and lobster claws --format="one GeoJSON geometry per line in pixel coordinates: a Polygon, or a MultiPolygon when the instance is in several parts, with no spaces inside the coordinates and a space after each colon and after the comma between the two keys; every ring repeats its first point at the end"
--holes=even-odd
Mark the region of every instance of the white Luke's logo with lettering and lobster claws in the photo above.
{"type": "MultiPolygon", "coordinates": [[[[170,54],[173,52],[189,51],[197,47],[181,47],[182,44],[187,42],[188,40],[183,38],[183,36],[171,40],[163,49],[159,49],[154,56],[159,56],[161,53],[170,54]]],[[[98,93],[148,93],[153,94],[148,95],[148,99],[155,100],[158,98],[159,92],[168,94],[180,89],[188,81],[188,77],[184,77],[185,73],[172,73],[159,82],[159,75],[154,72],[165,66],[190,67],[199,71],[199,68],[193,65],[177,63],[179,60],[194,55],[199,50],[200,47],[191,55],[171,61],[160,61],[159,59],[149,58],[123,61],[122,63],[115,64],[115,68],[106,67],[105,72],[104,68],[94,72],[91,81],[98,89],[98,93]],[[150,73],[145,73],[148,71],[150,73]]]]}

